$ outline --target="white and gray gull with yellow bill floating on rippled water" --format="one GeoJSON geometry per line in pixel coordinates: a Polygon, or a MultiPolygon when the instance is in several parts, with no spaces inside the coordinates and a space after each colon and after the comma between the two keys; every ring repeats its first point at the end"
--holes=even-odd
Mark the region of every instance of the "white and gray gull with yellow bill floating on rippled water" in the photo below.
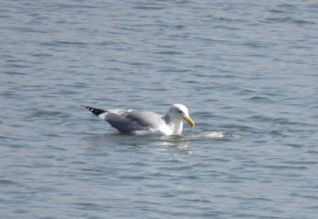
{"type": "Polygon", "coordinates": [[[194,128],[194,121],[189,116],[188,108],[181,104],[170,106],[165,115],[144,110],[103,110],[83,106],[124,134],[182,134],[183,121],[194,128]]]}

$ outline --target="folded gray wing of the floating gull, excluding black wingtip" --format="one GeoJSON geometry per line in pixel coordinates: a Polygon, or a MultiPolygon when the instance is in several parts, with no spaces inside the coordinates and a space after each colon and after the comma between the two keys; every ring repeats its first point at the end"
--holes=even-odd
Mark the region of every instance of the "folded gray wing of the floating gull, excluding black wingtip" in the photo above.
{"type": "Polygon", "coordinates": [[[105,120],[122,133],[149,130],[164,123],[162,115],[142,110],[128,111],[124,114],[109,113],[105,120]]]}

